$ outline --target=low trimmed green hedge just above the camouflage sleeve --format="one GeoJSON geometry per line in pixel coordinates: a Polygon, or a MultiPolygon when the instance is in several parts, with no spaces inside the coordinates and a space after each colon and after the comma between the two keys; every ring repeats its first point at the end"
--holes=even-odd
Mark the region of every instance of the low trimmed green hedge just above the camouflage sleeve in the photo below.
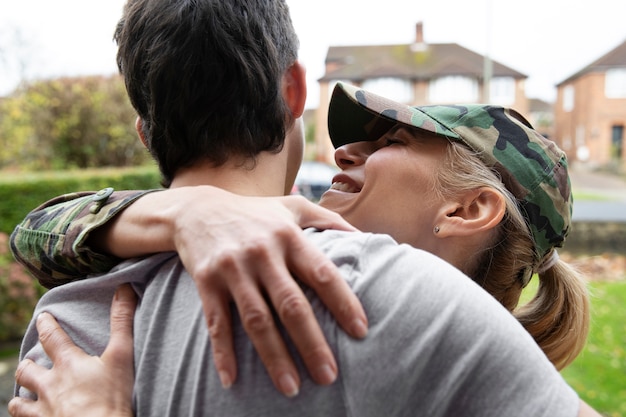
{"type": "Polygon", "coordinates": [[[154,166],[67,172],[0,174],[0,232],[10,234],[29,211],[41,203],[75,191],[159,188],[154,166]]]}

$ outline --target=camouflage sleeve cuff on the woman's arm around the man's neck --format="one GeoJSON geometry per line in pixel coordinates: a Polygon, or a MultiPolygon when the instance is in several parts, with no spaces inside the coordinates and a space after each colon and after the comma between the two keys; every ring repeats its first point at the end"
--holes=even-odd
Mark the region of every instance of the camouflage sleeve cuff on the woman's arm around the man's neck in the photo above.
{"type": "Polygon", "coordinates": [[[120,260],[92,251],[89,233],[139,197],[157,190],[65,194],[31,211],[10,238],[11,252],[46,288],[106,272],[120,260]]]}

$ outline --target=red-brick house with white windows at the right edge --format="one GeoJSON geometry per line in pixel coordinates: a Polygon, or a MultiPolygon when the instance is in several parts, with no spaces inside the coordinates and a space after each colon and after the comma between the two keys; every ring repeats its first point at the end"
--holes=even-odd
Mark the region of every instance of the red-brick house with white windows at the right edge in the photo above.
{"type": "Polygon", "coordinates": [[[556,87],[554,139],[569,160],[626,166],[626,41],[556,87]]]}

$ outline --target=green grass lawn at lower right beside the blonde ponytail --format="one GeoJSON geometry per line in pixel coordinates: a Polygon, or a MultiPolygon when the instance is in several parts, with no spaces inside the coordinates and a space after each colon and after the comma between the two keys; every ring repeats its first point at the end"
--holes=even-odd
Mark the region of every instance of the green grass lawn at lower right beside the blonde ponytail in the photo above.
{"type": "MultiPolygon", "coordinates": [[[[528,294],[536,290],[536,281],[529,285],[528,294]]],[[[591,329],[587,345],[561,373],[602,415],[626,417],[626,280],[591,282],[589,288],[591,329]]]]}

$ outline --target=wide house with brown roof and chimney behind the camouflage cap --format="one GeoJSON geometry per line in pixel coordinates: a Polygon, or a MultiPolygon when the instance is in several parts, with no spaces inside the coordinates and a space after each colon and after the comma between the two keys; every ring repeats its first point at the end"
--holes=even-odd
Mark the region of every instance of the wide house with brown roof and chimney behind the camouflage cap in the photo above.
{"type": "Polygon", "coordinates": [[[316,159],[333,161],[328,139],[328,103],[338,81],[361,86],[409,105],[493,103],[529,109],[526,75],[456,43],[429,44],[423,24],[415,41],[400,45],[331,46],[318,80],[315,120],[316,159]],[[484,80],[490,80],[489,83],[484,80]]]}

